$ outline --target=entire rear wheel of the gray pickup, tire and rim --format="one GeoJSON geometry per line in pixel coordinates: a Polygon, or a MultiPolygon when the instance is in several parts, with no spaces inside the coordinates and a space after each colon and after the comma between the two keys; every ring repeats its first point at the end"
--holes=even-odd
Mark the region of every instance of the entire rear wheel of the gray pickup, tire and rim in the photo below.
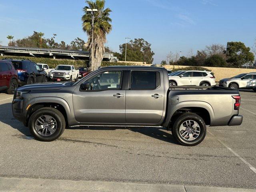
{"type": "Polygon", "coordinates": [[[195,146],[204,140],[206,125],[204,120],[194,113],[179,116],[172,127],[174,137],[185,146],[195,146]]]}

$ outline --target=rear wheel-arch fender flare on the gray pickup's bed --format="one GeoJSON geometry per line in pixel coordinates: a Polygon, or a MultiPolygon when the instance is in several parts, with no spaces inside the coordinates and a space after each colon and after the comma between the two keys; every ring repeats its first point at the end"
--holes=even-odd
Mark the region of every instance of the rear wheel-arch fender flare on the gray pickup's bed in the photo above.
{"type": "Polygon", "coordinates": [[[168,104],[168,109],[167,109],[167,114],[166,114],[166,120],[163,124],[164,127],[167,127],[173,114],[180,108],[188,108],[188,107],[200,107],[204,108],[208,111],[210,114],[210,123],[212,124],[212,120],[214,120],[214,110],[212,106],[203,101],[184,101],[184,102],[179,102],[176,105],[168,104]]]}

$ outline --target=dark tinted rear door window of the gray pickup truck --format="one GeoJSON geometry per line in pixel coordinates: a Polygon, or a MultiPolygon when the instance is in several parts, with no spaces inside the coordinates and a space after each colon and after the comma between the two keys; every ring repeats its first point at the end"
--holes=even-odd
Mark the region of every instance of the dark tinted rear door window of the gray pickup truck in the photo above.
{"type": "Polygon", "coordinates": [[[132,71],[130,89],[152,90],[160,86],[160,73],[156,71],[132,71]]]}

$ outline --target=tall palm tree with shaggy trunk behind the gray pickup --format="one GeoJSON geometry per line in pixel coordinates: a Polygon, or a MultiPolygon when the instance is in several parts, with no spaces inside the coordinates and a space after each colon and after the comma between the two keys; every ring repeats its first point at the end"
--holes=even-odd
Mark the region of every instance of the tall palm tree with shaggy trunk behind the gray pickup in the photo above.
{"type": "Polygon", "coordinates": [[[83,8],[84,15],[82,16],[82,27],[84,32],[88,35],[88,49],[90,54],[91,70],[96,70],[100,66],[105,52],[104,44],[106,43],[106,35],[112,30],[110,22],[110,8],[106,8],[105,0],[96,0],[95,2],[86,0],[88,6],[83,8]],[[86,11],[87,9],[98,9],[94,12],[94,28],[92,30],[92,14],[86,11]],[[93,35],[92,35],[93,31],[93,35]],[[92,41],[93,37],[93,41],[92,41]],[[93,42],[93,43],[92,43],[93,42]]]}

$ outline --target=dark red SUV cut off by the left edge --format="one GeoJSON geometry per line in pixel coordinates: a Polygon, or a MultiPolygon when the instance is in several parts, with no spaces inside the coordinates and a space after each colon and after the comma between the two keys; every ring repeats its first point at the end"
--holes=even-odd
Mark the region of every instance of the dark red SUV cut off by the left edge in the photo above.
{"type": "Polygon", "coordinates": [[[8,94],[14,94],[18,88],[18,72],[12,62],[0,60],[0,90],[7,90],[8,94]]]}

